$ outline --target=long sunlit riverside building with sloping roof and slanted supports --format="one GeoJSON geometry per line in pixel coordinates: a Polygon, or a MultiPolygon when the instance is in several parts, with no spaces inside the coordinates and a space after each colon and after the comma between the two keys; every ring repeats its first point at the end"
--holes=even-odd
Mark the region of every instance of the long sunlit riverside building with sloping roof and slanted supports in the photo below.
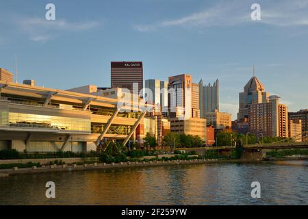
{"type": "Polygon", "coordinates": [[[146,113],[86,87],[88,93],[0,81],[0,149],[81,152],[110,140],[126,144],[146,113]]]}

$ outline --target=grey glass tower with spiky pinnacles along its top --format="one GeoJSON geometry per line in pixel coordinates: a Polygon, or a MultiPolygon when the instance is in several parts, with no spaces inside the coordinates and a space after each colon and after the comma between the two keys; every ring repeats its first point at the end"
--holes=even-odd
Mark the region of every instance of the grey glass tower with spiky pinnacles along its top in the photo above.
{"type": "Polygon", "coordinates": [[[205,118],[207,112],[214,112],[218,110],[219,112],[219,81],[218,79],[213,83],[208,85],[203,85],[203,80],[201,79],[199,84],[199,103],[200,103],[200,114],[201,118],[205,118]]]}

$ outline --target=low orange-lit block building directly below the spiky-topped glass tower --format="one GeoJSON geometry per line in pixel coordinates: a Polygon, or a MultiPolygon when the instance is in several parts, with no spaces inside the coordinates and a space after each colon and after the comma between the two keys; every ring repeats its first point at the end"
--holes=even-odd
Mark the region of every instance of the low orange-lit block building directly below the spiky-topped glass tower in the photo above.
{"type": "Polygon", "coordinates": [[[205,118],[207,119],[207,125],[213,126],[215,129],[229,129],[232,125],[231,114],[225,112],[207,112],[205,118]]]}

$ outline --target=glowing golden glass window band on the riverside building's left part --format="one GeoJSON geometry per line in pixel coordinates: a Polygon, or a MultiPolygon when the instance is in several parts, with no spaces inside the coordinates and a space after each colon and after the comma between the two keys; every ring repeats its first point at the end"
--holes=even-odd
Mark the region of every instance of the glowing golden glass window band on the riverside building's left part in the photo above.
{"type": "Polygon", "coordinates": [[[85,118],[9,113],[10,126],[38,127],[70,131],[91,131],[91,121],[85,118]]]}

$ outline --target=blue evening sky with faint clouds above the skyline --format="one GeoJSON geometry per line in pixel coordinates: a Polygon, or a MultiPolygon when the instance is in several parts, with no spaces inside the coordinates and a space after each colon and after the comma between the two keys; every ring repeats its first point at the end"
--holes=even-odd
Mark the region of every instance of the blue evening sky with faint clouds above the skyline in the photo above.
{"type": "Polygon", "coordinates": [[[293,112],[308,108],[308,0],[0,0],[0,68],[14,72],[15,55],[18,82],[63,90],[110,87],[111,61],[142,61],[144,79],[219,79],[220,111],[233,118],[255,65],[293,112]]]}

